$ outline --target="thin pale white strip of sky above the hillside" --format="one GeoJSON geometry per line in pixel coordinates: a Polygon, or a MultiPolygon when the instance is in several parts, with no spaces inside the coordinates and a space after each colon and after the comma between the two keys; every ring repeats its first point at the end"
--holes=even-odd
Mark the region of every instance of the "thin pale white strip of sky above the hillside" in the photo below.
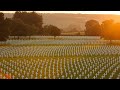
{"type": "MultiPolygon", "coordinates": [[[[14,13],[15,11],[0,11],[4,13],[14,13]]],[[[81,13],[81,14],[117,14],[120,15],[120,11],[35,11],[39,13],[81,13]]]]}

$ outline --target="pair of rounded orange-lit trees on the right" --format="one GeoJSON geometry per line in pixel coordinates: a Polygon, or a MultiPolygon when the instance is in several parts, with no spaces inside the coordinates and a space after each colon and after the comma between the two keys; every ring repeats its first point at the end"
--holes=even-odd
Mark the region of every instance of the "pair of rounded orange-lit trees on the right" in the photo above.
{"type": "Polygon", "coordinates": [[[89,20],[85,27],[85,34],[88,36],[101,36],[106,40],[120,39],[120,23],[115,23],[112,19],[105,20],[101,24],[96,20],[89,20]]]}

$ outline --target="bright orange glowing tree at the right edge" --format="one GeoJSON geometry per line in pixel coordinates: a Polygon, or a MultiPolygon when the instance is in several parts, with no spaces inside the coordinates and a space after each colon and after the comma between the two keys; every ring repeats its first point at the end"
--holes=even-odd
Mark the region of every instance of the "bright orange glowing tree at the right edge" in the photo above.
{"type": "Polygon", "coordinates": [[[102,37],[104,39],[119,40],[120,39],[120,23],[115,23],[113,20],[105,20],[101,24],[102,37]]]}

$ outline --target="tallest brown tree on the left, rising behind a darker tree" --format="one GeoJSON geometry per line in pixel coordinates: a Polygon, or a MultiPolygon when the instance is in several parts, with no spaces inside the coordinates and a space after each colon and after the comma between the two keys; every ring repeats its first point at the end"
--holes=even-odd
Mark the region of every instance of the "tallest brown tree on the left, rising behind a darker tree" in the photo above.
{"type": "Polygon", "coordinates": [[[21,19],[25,24],[32,25],[37,29],[36,35],[43,34],[42,24],[43,24],[43,18],[42,15],[39,15],[35,12],[15,12],[13,19],[21,19]]]}

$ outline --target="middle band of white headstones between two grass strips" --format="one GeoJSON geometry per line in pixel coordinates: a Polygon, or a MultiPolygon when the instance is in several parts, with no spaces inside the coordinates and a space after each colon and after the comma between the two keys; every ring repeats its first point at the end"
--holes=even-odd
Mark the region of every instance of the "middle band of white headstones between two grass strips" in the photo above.
{"type": "Polygon", "coordinates": [[[120,55],[119,46],[9,46],[0,47],[0,57],[120,55]]]}

